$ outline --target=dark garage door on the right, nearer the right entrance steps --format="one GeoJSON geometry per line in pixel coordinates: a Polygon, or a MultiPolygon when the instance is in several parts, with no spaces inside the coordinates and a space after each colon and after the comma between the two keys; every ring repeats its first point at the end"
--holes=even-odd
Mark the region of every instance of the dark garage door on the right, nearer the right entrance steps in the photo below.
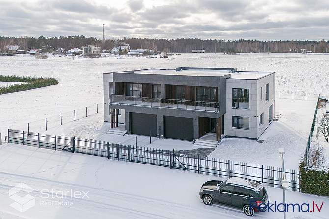
{"type": "Polygon", "coordinates": [[[193,119],[164,116],[164,137],[192,141],[193,119]]]}

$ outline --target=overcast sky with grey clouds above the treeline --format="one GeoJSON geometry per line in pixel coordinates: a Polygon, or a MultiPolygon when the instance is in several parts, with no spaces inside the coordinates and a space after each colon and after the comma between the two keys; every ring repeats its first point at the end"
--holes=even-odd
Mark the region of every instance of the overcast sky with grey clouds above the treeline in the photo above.
{"type": "Polygon", "coordinates": [[[329,40],[329,0],[0,0],[0,36],[329,40]]]}

